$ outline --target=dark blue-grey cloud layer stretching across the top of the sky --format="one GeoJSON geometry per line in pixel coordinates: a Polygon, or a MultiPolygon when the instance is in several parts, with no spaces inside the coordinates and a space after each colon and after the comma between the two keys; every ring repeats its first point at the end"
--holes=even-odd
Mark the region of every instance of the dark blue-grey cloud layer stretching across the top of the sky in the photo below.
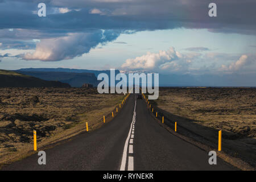
{"type": "Polygon", "coordinates": [[[208,16],[212,1],[44,1],[47,14],[54,8],[65,7],[68,13],[49,14],[39,18],[32,12],[38,10],[40,1],[6,1],[0,6],[1,28],[51,28],[53,31],[82,31],[84,28],[156,30],[168,28],[209,28],[213,32],[255,34],[256,1],[214,1],[217,17],[208,16]],[[15,8],[16,7],[16,8],[15,8]],[[106,11],[105,15],[90,14],[90,10],[106,11]]]}

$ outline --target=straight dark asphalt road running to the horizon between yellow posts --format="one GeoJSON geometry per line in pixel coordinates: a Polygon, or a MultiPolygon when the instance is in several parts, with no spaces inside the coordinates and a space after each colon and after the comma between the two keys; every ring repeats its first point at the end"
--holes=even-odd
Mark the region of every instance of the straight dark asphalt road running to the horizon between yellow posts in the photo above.
{"type": "Polygon", "coordinates": [[[146,103],[131,94],[109,123],[92,133],[45,150],[46,165],[28,156],[2,170],[234,170],[217,158],[172,135],[150,115],[146,103]]]}

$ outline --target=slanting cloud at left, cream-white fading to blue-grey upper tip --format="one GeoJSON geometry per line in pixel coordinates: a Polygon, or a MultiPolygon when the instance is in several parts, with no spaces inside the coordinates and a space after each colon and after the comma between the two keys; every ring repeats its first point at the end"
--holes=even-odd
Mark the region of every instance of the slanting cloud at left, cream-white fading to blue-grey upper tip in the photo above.
{"type": "Polygon", "coordinates": [[[98,44],[115,40],[118,31],[91,31],[86,33],[71,33],[60,38],[43,39],[36,44],[33,53],[20,55],[24,60],[59,61],[73,59],[88,53],[98,44]]]}

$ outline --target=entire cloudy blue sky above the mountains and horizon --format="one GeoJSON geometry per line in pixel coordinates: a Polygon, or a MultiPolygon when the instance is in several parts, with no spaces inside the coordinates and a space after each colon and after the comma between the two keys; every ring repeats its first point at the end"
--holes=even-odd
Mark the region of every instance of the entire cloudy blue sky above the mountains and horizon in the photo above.
{"type": "Polygon", "coordinates": [[[256,80],[255,7],[255,0],[0,0],[0,69],[256,80]],[[46,17],[37,14],[41,2],[46,17]],[[211,2],[217,17],[208,15],[211,2]]]}

